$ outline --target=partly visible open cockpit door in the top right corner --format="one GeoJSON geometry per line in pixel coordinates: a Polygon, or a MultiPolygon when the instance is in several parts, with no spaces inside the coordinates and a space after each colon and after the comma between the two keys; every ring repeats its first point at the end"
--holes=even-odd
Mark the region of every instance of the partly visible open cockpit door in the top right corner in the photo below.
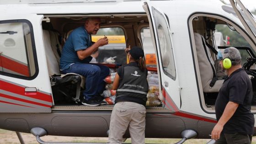
{"type": "MultiPolygon", "coordinates": [[[[237,14],[238,18],[244,25],[247,33],[250,35],[254,43],[256,43],[256,17],[253,16],[241,3],[240,0],[229,0],[230,4],[235,10],[235,13],[237,14]]],[[[256,48],[254,47],[254,50],[256,48]]]]}

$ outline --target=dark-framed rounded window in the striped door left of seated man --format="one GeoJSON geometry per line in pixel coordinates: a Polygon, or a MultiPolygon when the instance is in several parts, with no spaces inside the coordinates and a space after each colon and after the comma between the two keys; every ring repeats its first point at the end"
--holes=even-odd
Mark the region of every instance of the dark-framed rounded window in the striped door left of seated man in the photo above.
{"type": "Polygon", "coordinates": [[[37,72],[32,24],[27,20],[0,21],[0,72],[32,79],[37,72]]]}

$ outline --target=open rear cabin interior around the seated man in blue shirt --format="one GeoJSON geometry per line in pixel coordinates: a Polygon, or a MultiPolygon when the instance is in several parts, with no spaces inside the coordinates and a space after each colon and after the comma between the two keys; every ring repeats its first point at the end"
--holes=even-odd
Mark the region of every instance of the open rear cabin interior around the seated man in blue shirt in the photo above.
{"type": "MultiPolygon", "coordinates": [[[[85,89],[86,78],[74,74],[60,75],[59,60],[61,49],[69,34],[76,27],[83,26],[86,17],[88,16],[47,16],[45,17],[46,21],[42,22],[43,42],[52,85],[53,109],[82,106],[80,101],[82,100],[82,91],[85,89]]],[[[106,36],[109,44],[99,47],[96,60],[99,64],[108,64],[107,66],[110,67],[112,76],[118,66],[127,63],[124,49],[128,48],[129,45],[131,47],[136,45],[144,48],[145,57],[148,57],[149,53],[150,56],[153,54],[153,57],[155,57],[153,44],[151,40],[149,41],[149,21],[146,14],[99,17],[101,17],[101,28],[96,35],[92,35],[92,41],[97,41],[97,39],[106,36]],[[147,45],[147,47],[143,47],[143,45],[147,45]],[[152,50],[154,51],[153,53],[152,50]],[[114,61],[108,61],[108,58],[112,58],[114,61]]],[[[148,67],[155,67],[155,70],[149,70],[148,80],[151,79],[151,82],[149,82],[147,107],[161,107],[162,97],[159,94],[156,63],[155,61],[152,63],[152,60],[154,61],[155,59],[149,59],[149,62],[146,62],[148,67]]],[[[113,81],[113,77],[111,80],[113,81]]],[[[113,106],[115,94],[111,91],[112,81],[106,81],[106,91],[103,91],[101,96],[107,101],[107,105],[101,107],[113,106]]]]}

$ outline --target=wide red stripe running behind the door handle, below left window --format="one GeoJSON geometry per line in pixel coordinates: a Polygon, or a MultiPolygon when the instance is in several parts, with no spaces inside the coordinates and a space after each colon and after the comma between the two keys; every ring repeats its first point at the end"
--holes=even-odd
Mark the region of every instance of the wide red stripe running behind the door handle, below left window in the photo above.
{"type": "Polygon", "coordinates": [[[0,80],[0,89],[16,93],[18,95],[35,98],[42,101],[53,102],[52,96],[37,91],[37,95],[26,95],[25,88],[0,80]]]}

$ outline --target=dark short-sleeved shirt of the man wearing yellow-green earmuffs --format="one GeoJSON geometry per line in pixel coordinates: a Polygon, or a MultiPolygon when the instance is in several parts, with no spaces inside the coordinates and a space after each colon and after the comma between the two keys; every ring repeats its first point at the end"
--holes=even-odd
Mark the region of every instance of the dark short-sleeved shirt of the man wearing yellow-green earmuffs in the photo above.
{"type": "Polygon", "coordinates": [[[253,134],[254,115],[251,113],[251,100],[251,80],[244,69],[237,69],[224,80],[215,103],[217,121],[229,101],[239,104],[234,115],[224,125],[222,133],[253,134]]]}

